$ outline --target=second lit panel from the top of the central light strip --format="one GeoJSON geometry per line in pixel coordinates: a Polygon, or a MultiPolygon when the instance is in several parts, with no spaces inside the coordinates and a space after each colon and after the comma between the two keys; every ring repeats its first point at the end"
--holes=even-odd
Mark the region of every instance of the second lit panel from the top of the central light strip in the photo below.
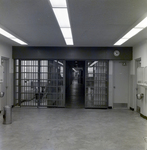
{"type": "Polygon", "coordinates": [[[68,11],[66,8],[53,8],[53,11],[61,28],[70,27],[68,11]]]}

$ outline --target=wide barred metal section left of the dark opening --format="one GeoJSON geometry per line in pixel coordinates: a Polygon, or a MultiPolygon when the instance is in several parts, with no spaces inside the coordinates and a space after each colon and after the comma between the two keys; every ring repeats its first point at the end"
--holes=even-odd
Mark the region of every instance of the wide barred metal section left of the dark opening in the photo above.
{"type": "Polygon", "coordinates": [[[15,60],[14,105],[64,107],[64,64],[62,60],[15,60]]]}

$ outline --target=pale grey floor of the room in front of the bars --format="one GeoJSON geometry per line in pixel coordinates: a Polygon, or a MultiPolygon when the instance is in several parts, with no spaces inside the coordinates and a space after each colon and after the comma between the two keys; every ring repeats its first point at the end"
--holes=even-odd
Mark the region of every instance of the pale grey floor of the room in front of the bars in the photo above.
{"type": "Polygon", "coordinates": [[[144,150],[147,120],[125,109],[13,108],[0,150],[144,150]]]}

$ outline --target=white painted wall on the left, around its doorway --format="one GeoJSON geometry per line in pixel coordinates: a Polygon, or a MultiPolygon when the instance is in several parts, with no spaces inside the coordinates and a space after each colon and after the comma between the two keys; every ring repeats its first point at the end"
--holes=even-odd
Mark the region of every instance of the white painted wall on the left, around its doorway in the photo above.
{"type": "MultiPolygon", "coordinates": [[[[1,58],[5,57],[9,59],[9,77],[8,77],[8,105],[13,104],[13,60],[12,60],[12,46],[9,46],[5,43],[0,42],[0,65],[1,65],[1,58]]],[[[0,84],[0,91],[1,91],[1,84],[0,84]]],[[[0,98],[0,111],[3,109],[1,105],[2,98],[0,98]]]]}

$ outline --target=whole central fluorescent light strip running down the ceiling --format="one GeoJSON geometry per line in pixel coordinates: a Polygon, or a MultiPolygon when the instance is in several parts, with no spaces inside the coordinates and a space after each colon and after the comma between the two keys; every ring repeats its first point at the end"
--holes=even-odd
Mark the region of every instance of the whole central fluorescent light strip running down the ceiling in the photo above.
{"type": "Polygon", "coordinates": [[[66,0],[50,0],[53,12],[67,45],[73,45],[72,31],[66,0]]]}

